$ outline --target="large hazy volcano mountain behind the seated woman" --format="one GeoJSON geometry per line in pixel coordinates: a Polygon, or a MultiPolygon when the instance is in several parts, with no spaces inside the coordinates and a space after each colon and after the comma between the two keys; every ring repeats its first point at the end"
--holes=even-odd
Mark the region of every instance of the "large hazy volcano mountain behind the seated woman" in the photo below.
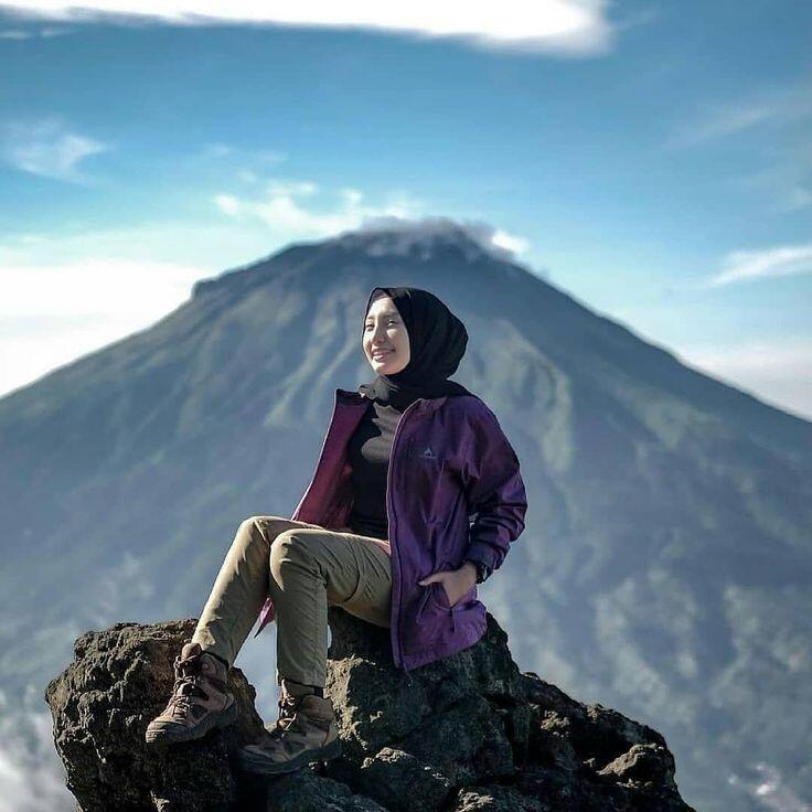
{"type": "Polygon", "coordinates": [[[462,319],[455,378],[522,463],[527,526],[482,589],[516,662],[661,730],[704,812],[777,809],[759,770],[812,798],[812,424],[445,220],[291,245],[0,399],[6,694],[87,629],[195,615],[239,522],[290,515],[334,388],[373,377],[375,285],[462,319]]]}

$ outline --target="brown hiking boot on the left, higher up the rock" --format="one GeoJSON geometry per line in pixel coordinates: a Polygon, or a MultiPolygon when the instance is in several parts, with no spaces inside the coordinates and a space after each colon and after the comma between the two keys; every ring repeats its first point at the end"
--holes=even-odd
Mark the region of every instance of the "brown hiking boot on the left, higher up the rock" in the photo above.
{"type": "Polygon", "coordinates": [[[186,643],[174,659],[174,688],[167,707],[147,726],[149,744],[174,744],[205,736],[237,718],[237,703],[227,687],[228,666],[186,643]]]}

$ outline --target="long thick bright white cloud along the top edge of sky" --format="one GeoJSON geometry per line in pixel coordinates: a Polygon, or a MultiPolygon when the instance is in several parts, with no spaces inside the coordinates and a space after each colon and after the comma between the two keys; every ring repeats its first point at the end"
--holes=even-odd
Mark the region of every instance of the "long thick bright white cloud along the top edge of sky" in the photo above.
{"type": "Polygon", "coordinates": [[[408,3],[299,0],[292,4],[257,4],[248,0],[229,3],[215,0],[196,3],[87,0],[81,6],[58,0],[12,0],[6,6],[29,19],[88,22],[115,15],[120,24],[128,24],[128,17],[147,17],[171,25],[237,22],[363,29],[429,40],[453,38],[484,50],[568,56],[591,56],[611,50],[616,25],[608,18],[609,7],[609,0],[536,0],[534,3],[504,0],[481,6],[472,14],[470,7],[429,0],[408,3]]]}

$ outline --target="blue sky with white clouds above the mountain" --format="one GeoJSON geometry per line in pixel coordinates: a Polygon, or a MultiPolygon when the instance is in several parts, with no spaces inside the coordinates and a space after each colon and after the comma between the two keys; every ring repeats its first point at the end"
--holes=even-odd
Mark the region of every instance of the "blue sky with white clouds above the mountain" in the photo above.
{"type": "Polygon", "coordinates": [[[0,394],[394,214],[812,418],[812,3],[85,4],[0,7],[0,394]]]}

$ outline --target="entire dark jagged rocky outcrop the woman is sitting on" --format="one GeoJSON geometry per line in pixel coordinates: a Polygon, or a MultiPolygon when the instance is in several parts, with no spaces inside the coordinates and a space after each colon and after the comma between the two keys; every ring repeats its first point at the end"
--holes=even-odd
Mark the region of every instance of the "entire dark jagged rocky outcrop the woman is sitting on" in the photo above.
{"type": "Polygon", "coordinates": [[[330,609],[330,623],[325,694],[339,715],[342,756],[276,779],[245,776],[233,763],[236,749],[256,740],[263,727],[256,693],[236,667],[234,726],[168,749],[145,744],[193,620],[118,623],[82,635],[74,661],[45,693],[78,809],[691,810],[660,734],[521,673],[490,615],[479,643],[410,673],[394,667],[387,630],[338,608],[330,609]]]}

